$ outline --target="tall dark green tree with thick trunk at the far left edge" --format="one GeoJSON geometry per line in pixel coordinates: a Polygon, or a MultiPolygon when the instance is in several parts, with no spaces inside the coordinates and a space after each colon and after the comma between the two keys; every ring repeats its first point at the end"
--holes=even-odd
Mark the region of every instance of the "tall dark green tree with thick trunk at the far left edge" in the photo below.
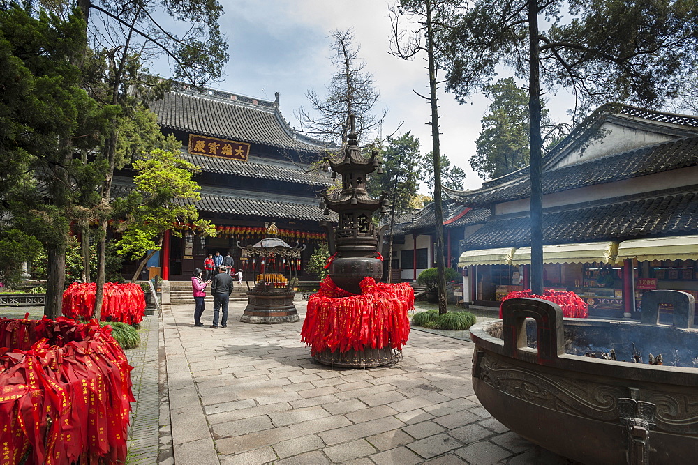
{"type": "Polygon", "coordinates": [[[80,205],[76,186],[87,171],[74,155],[96,146],[103,112],[82,89],[87,36],[79,12],[61,16],[23,6],[8,2],[0,10],[1,82],[10,90],[0,102],[0,127],[7,129],[0,130],[0,165],[10,183],[0,183],[0,195],[15,227],[47,248],[45,314],[57,317],[70,221],[80,205]]]}

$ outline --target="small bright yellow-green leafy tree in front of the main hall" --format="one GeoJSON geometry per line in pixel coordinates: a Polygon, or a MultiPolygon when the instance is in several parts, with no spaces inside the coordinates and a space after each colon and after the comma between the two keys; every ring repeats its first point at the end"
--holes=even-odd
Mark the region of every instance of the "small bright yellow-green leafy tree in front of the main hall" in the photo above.
{"type": "Polygon", "coordinates": [[[114,202],[114,210],[121,213],[121,239],[117,242],[119,254],[141,259],[132,282],[138,280],[147,261],[163,245],[165,231],[181,237],[178,224],[193,223],[206,236],[215,236],[216,228],[208,220],[199,220],[193,204],[201,199],[199,185],[193,175],[201,169],[174,152],[156,148],[147,158],[132,163],[137,175],[133,178],[135,190],[124,199],[114,202]]]}

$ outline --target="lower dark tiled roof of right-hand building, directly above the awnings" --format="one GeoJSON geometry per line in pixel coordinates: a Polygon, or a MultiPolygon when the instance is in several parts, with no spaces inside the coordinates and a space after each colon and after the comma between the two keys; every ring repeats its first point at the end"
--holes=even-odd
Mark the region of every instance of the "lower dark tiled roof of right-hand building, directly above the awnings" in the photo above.
{"type": "MultiPolygon", "coordinates": [[[[544,211],[543,242],[625,241],[648,236],[698,234],[697,192],[613,201],[609,199],[588,206],[544,211]]],[[[490,218],[472,236],[461,241],[463,250],[528,245],[528,215],[490,218]]]]}

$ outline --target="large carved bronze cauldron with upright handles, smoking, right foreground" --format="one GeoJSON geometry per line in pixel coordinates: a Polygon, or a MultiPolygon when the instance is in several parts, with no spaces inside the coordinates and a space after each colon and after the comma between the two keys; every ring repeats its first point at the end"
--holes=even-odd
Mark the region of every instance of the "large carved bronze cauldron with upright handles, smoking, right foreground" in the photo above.
{"type": "Polygon", "coordinates": [[[674,327],[659,326],[658,311],[644,300],[645,323],[565,319],[564,324],[554,303],[505,301],[503,321],[470,328],[477,398],[512,431],[578,462],[696,463],[698,330],[690,329],[693,299],[680,294],[686,310],[681,314],[674,305],[674,327]],[[685,326],[677,327],[681,322],[685,326]],[[662,353],[665,365],[584,356],[607,356],[610,349],[617,360],[646,362],[650,353],[662,353]]]}

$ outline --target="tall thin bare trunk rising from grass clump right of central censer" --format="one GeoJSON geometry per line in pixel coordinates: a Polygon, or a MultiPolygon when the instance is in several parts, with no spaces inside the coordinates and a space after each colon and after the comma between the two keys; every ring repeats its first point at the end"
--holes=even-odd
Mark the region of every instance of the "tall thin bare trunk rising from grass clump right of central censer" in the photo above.
{"type": "Polygon", "coordinates": [[[436,227],[436,268],[438,289],[438,312],[448,311],[446,296],[446,272],[443,263],[443,209],[441,207],[441,153],[438,135],[438,105],[436,99],[436,63],[434,61],[433,24],[431,14],[433,3],[426,0],[426,52],[429,55],[429,100],[431,101],[431,140],[433,142],[434,164],[434,222],[436,227]]]}

